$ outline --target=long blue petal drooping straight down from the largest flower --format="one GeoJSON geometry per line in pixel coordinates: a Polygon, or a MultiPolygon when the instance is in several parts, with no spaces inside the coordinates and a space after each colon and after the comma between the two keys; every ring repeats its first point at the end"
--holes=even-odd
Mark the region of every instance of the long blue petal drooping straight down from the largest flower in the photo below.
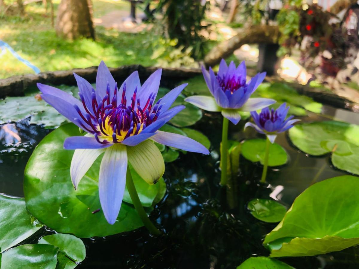
{"type": "Polygon", "coordinates": [[[116,222],[126,186],[126,146],[117,144],[106,150],[100,165],[98,191],[101,208],[109,224],[116,222]]]}

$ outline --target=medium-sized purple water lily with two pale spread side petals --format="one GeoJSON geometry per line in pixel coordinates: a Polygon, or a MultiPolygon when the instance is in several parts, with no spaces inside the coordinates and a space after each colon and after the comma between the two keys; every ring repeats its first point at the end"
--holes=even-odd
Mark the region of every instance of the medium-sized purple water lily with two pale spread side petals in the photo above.
{"type": "Polygon", "coordinates": [[[233,61],[227,66],[222,59],[217,75],[211,68],[208,72],[203,66],[202,73],[213,97],[195,95],[187,97],[185,101],[207,111],[222,112],[223,117],[233,124],[241,120],[240,112],[251,112],[275,103],[272,99],[250,98],[264,80],[266,73],[258,73],[247,83],[244,61],[236,67],[233,61]]]}

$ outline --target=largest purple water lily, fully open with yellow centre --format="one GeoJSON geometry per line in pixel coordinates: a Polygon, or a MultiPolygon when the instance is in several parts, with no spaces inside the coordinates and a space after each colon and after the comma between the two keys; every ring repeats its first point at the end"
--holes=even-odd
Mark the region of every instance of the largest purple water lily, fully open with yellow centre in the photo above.
{"type": "Polygon", "coordinates": [[[102,61],[98,67],[96,90],[74,74],[80,100],[57,88],[37,84],[42,99],[78,127],[85,136],[66,138],[64,148],[75,150],[70,174],[75,189],[99,155],[104,152],[99,171],[99,198],[108,223],[116,221],[126,184],[127,163],[149,184],[164,173],[162,154],[153,141],[186,151],[209,154],[191,138],[158,131],[185,108],[170,108],[187,86],[182,84],[155,102],[162,70],[155,71],[141,86],[133,72],[118,89],[102,61]],[[150,140],[149,140],[150,139],[150,140]]]}

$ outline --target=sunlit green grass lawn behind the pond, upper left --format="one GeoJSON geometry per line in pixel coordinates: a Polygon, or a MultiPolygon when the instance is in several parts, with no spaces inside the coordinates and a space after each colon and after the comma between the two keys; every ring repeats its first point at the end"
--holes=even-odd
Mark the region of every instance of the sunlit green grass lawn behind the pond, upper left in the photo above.
{"type": "MultiPolygon", "coordinates": [[[[59,0],[54,3],[56,11],[59,0]]],[[[129,8],[129,3],[123,0],[94,0],[93,3],[94,17],[114,9],[129,8]]],[[[151,60],[153,52],[146,34],[119,33],[96,27],[96,41],[85,38],[66,41],[56,36],[50,15],[42,5],[29,5],[26,13],[23,18],[18,15],[0,17],[0,39],[41,71],[96,66],[101,60],[111,67],[155,64],[155,60],[151,60]]],[[[0,61],[0,79],[33,73],[8,51],[0,56],[0,61]]]]}

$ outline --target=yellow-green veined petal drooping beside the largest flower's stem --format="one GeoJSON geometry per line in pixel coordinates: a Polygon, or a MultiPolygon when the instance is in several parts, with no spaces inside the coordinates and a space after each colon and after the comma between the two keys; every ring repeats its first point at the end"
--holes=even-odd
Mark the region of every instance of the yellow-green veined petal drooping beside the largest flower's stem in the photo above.
{"type": "Polygon", "coordinates": [[[145,140],[134,147],[127,147],[129,162],[148,184],[155,184],[164,173],[161,152],[153,141],[145,140]]]}

